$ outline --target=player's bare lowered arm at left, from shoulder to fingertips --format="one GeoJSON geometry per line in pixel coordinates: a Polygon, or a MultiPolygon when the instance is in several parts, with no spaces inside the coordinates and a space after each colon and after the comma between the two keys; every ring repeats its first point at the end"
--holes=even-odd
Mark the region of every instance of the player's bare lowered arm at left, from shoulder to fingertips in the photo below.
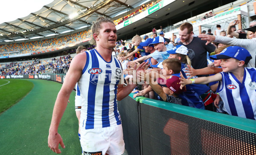
{"type": "Polygon", "coordinates": [[[65,81],[55,101],[48,136],[48,147],[52,149],[53,152],[61,153],[61,150],[58,149],[59,144],[61,144],[62,148],[65,148],[61,135],[58,134],[58,126],[67,107],[67,101],[70,97],[70,93],[75,87],[76,82],[79,80],[81,76],[81,71],[84,68],[85,63],[85,53],[75,56],[75,58],[70,63],[70,69],[67,72],[65,81]]]}

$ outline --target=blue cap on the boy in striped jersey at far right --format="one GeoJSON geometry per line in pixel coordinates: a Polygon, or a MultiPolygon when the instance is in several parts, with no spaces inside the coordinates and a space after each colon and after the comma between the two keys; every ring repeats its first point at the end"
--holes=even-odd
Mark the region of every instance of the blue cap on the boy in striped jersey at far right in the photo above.
{"type": "Polygon", "coordinates": [[[250,59],[252,59],[252,56],[245,48],[230,46],[225,48],[220,54],[210,56],[210,58],[213,60],[234,58],[239,61],[244,61],[247,65],[250,59]]]}

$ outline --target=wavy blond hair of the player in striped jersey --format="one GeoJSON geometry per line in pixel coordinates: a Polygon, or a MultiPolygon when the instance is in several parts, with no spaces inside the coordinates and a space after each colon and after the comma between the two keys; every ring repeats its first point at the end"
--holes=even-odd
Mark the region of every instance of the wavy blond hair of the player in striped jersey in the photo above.
{"type": "MultiPolygon", "coordinates": [[[[93,34],[99,34],[99,30],[102,28],[101,23],[113,23],[113,21],[107,17],[99,16],[96,19],[96,21],[93,21],[93,25],[91,26],[92,36],[93,36],[93,34]]],[[[92,37],[92,39],[90,39],[90,44],[96,45],[96,41],[93,37],[92,37]]]]}

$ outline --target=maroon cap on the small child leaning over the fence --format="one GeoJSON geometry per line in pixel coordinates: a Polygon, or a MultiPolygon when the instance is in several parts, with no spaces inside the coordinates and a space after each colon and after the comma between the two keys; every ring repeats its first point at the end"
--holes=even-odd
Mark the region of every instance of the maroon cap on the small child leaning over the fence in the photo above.
{"type": "Polygon", "coordinates": [[[168,79],[157,78],[157,84],[162,87],[168,87],[176,94],[186,91],[186,87],[180,89],[180,78],[178,76],[170,76],[168,79]]]}

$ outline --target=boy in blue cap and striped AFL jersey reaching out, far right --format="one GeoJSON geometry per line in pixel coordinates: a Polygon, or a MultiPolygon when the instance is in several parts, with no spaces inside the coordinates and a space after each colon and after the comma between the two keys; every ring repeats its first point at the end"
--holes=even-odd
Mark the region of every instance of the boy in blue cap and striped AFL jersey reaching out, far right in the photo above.
{"type": "Polygon", "coordinates": [[[221,59],[223,72],[195,79],[185,79],[180,75],[180,88],[220,81],[216,92],[221,96],[227,113],[256,120],[256,68],[245,67],[252,59],[250,53],[245,48],[230,46],[210,57],[221,59]]]}

